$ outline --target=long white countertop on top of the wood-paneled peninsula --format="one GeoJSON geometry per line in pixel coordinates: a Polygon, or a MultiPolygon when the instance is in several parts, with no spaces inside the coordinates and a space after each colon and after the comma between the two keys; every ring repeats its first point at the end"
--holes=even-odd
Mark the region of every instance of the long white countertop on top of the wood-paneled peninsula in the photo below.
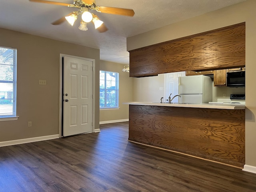
{"type": "Polygon", "coordinates": [[[128,105],[150,105],[150,106],[168,106],[168,107],[190,107],[190,108],[210,108],[210,109],[245,109],[245,105],[236,104],[197,104],[197,103],[157,103],[157,102],[123,102],[128,105]]]}

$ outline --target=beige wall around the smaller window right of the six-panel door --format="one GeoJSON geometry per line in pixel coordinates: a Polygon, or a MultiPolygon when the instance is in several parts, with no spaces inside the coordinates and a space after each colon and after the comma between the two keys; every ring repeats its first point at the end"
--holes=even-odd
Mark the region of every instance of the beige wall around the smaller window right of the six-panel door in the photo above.
{"type": "Polygon", "coordinates": [[[122,72],[123,64],[100,61],[100,70],[119,73],[119,109],[100,110],[100,122],[126,120],[129,118],[129,105],[123,102],[132,101],[132,79],[128,72],[122,72]]]}

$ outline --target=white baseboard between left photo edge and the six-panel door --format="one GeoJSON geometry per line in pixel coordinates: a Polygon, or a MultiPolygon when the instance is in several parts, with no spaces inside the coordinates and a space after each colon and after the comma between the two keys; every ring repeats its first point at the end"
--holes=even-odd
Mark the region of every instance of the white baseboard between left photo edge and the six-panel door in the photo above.
{"type": "Polygon", "coordinates": [[[59,134],[0,142],[0,147],[60,138],[59,134]]]}

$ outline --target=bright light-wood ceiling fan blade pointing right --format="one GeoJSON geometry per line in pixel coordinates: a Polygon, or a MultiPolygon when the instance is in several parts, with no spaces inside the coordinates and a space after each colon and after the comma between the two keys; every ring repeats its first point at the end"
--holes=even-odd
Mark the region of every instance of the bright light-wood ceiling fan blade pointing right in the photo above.
{"type": "Polygon", "coordinates": [[[124,16],[131,16],[131,17],[134,16],[134,10],[132,9],[96,6],[95,10],[102,13],[124,15],[124,16]]]}

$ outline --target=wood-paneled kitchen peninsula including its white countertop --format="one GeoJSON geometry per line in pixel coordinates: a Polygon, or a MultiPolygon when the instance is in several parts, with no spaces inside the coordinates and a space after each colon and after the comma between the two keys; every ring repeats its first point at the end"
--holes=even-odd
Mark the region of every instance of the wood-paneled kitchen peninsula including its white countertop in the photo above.
{"type": "Polygon", "coordinates": [[[129,141],[244,166],[244,105],[123,104],[129,104],[129,141]]]}

